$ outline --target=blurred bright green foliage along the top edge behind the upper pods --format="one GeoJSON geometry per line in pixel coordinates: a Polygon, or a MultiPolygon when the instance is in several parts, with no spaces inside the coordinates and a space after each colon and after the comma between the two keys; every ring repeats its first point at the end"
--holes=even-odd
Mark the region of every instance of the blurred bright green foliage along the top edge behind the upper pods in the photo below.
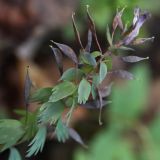
{"type": "MultiPolygon", "coordinates": [[[[87,28],[87,26],[84,25],[85,23],[83,18],[85,16],[84,7],[86,5],[90,6],[91,15],[93,16],[97,29],[100,33],[103,33],[106,29],[106,25],[111,23],[117,8],[126,7],[127,12],[124,10],[123,21],[128,25],[131,24],[130,20],[133,18],[132,13],[134,7],[140,7],[143,10],[147,10],[155,14],[159,13],[160,8],[160,1],[158,0],[80,0],[79,4],[80,5],[77,8],[78,17],[76,21],[77,26],[82,33],[87,28]]],[[[64,31],[68,38],[73,37],[70,24],[64,31]]],[[[142,34],[145,34],[144,32],[145,30],[142,34]]]]}

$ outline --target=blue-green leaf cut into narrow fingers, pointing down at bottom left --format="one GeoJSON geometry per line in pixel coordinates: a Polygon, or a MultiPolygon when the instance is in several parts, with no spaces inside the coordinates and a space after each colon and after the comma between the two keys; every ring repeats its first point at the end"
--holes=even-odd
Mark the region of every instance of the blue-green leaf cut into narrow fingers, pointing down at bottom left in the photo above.
{"type": "Polygon", "coordinates": [[[30,148],[27,151],[26,157],[31,157],[32,155],[36,155],[39,151],[42,152],[46,136],[47,136],[47,128],[44,126],[40,126],[34,139],[29,144],[30,148]]]}

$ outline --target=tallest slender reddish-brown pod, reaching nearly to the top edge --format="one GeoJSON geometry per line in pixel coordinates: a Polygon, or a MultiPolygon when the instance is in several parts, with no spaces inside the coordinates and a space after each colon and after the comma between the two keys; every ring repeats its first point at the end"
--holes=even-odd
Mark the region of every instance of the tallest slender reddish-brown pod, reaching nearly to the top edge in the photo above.
{"type": "Polygon", "coordinates": [[[102,53],[102,49],[100,47],[100,44],[98,42],[98,38],[97,38],[97,33],[96,33],[96,27],[95,27],[95,24],[90,16],[90,13],[89,13],[89,10],[88,10],[89,6],[87,5],[87,18],[88,18],[88,23],[89,23],[89,29],[91,30],[93,36],[94,36],[94,39],[96,41],[96,45],[99,49],[99,51],[102,53]]]}

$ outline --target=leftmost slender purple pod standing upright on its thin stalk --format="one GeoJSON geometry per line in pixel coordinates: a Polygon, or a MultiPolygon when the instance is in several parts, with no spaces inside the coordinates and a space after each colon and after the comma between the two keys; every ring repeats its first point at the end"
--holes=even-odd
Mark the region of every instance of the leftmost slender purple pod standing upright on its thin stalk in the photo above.
{"type": "Polygon", "coordinates": [[[30,97],[30,91],[32,87],[32,81],[29,76],[29,66],[27,66],[27,73],[25,78],[25,85],[24,85],[24,102],[26,107],[26,119],[28,114],[28,105],[29,105],[29,97],[30,97]]]}

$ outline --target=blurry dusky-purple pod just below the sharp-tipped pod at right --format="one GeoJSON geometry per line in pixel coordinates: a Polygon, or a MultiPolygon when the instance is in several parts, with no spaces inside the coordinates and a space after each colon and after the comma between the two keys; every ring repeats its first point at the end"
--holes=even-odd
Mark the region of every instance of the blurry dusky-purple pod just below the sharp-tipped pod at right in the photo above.
{"type": "Polygon", "coordinates": [[[129,80],[134,79],[134,75],[128,71],[125,71],[125,70],[113,71],[113,72],[111,72],[111,74],[113,74],[117,77],[123,78],[123,79],[129,79],[129,80]]]}

